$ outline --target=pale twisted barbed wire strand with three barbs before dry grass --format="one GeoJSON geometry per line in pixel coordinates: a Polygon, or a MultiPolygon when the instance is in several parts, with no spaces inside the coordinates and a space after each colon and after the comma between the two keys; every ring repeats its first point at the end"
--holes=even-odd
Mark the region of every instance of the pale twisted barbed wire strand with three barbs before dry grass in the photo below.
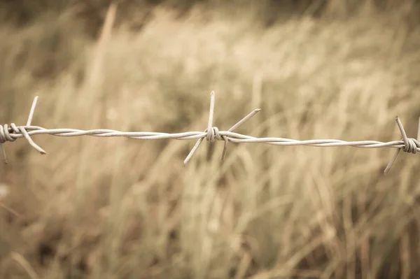
{"type": "Polygon", "coordinates": [[[197,148],[200,147],[202,141],[206,139],[213,143],[214,141],[224,141],[225,145],[223,148],[221,159],[223,160],[225,157],[226,148],[228,146],[228,142],[232,143],[264,143],[269,145],[309,145],[315,147],[334,147],[334,146],[351,146],[354,148],[397,148],[395,155],[391,158],[391,161],[386,166],[384,170],[384,174],[388,173],[388,171],[393,166],[395,159],[397,159],[398,154],[401,150],[404,152],[409,152],[416,154],[416,152],[420,152],[420,122],[419,122],[419,131],[417,134],[417,138],[408,138],[407,134],[405,133],[404,127],[402,127],[402,123],[398,115],[395,117],[395,121],[397,122],[398,128],[400,129],[400,133],[402,135],[402,140],[400,141],[389,141],[389,142],[381,142],[381,141],[341,141],[336,139],[318,139],[318,140],[307,140],[307,141],[298,141],[290,138],[257,138],[254,136],[247,136],[244,134],[235,133],[235,129],[237,129],[241,124],[244,124],[247,120],[253,117],[260,111],[260,108],[253,110],[251,113],[246,115],[244,118],[239,120],[235,125],[233,125],[228,131],[219,131],[217,127],[213,127],[213,117],[214,117],[214,104],[215,104],[215,94],[214,91],[210,94],[210,110],[209,110],[209,122],[207,129],[204,131],[187,131],[183,133],[175,133],[175,134],[168,134],[168,133],[160,133],[160,132],[149,132],[149,131],[116,131],[111,129],[93,129],[93,130],[80,130],[80,129],[45,129],[43,127],[33,126],[31,125],[32,118],[34,117],[34,111],[36,108],[36,104],[38,102],[38,96],[34,98],[34,102],[32,103],[31,110],[29,112],[29,117],[27,120],[27,124],[25,126],[16,126],[14,123],[4,124],[3,126],[0,125],[0,153],[3,159],[4,164],[8,164],[6,158],[6,152],[3,148],[3,143],[7,141],[16,141],[18,138],[26,138],[29,144],[38,150],[41,154],[46,154],[45,150],[41,148],[39,145],[34,143],[31,139],[31,136],[39,135],[39,134],[49,134],[51,136],[97,136],[97,137],[111,137],[111,136],[123,136],[126,138],[134,138],[140,140],[158,140],[158,139],[167,139],[172,138],[176,140],[193,140],[196,139],[197,143],[195,143],[193,149],[190,151],[186,159],[184,160],[184,164],[188,164],[191,157],[193,157],[194,153],[197,151],[197,148]]]}

